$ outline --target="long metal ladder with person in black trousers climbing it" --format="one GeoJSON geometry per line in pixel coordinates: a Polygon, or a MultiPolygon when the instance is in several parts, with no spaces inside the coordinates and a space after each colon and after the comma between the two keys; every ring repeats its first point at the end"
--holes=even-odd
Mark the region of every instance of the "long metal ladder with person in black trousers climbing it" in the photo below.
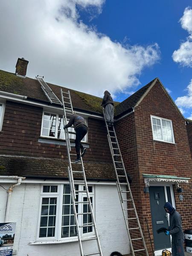
{"type": "MultiPolygon", "coordinates": [[[[71,102],[70,91],[68,90],[68,92],[64,92],[61,89],[61,99],[62,99],[62,104],[63,104],[63,123],[64,123],[64,125],[66,125],[67,124],[67,116],[73,115],[73,106],[72,106],[72,102],[71,102]]],[[[88,190],[88,186],[87,186],[87,180],[86,180],[86,176],[85,176],[85,172],[84,172],[83,160],[82,160],[81,156],[80,156],[81,165],[78,163],[75,163],[76,166],[80,167],[80,170],[73,171],[73,169],[72,169],[73,162],[71,161],[71,157],[75,157],[76,154],[70,153],[71,146],[70,146],[69,134],[75,134],[75,132],[70,132],[70,131],[68,131],[68,129],[65,129],[64,131],[65,131],[67,154],[68,154],[68,160],[69,160],[68,175],[69,175],[69,182],[70,182],[71,198],[72,198],[72,204],[73,204],[73,211],[74,211],[74,215],[75,215],[75,222],[76,222],[76,229],[77,229],[80,253],[81,253],[81,256],[89,256],[89,255],[103,256],[98,232],[96,229],[96,222],[95,222],[95,218],[93,215],[93,208],[91,205],[91,199],[90,199],[89,190],[88,190]],[[81,175],[81,177],[83,177],[83,180],[74,180],[73,179],[74,174],[81,175]],[[84,189],[82,191],[76,190],[75,182],[83,184],[83,188],[85,190],[84,189]],[[87,201],[76,201],[76,194],[78,194],[79,192],[86,192],[87,201]],[[79,204],[83,204],[83,205],[86,204],[87,209],[88,209],[87,212],[77,212],[76,205],[79,205],[79,204]],[[79,225],[78,215],[85,215],[85,214],[91,216],[91,223],[79,225]],[[86,239],[81,238],[80,228],[82,229],[83,227],[94,227],[95,237],[86,238],[86,239]],[[88,240],[96,240],[97,241],[98,251],[92,252],[92,253],[83,253],[82,241],[88,241],[88,240]]],[[[81,209],[82,208],[83,207],[81,207],[81,209]]]]}

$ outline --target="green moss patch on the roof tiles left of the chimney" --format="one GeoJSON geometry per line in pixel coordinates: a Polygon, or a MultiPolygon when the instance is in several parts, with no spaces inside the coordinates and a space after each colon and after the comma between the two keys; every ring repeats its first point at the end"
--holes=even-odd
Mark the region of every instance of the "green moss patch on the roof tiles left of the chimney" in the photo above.
{"type": "Polygon", "coordinates": [[[16,76],[14,73],[9,73],[0,70],[0,90],[19,94],[20,88],[23,87],[23,79],[16,76]]]}

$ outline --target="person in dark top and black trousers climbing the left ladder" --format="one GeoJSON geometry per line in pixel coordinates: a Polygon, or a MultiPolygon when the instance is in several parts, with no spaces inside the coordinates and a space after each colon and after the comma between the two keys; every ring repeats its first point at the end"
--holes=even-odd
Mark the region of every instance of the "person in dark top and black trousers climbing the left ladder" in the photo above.
{"type": "Polygon", "coordinates": [[[76,139],[75,139],[76,146],[75,146],[75,148],[76,148],[77,158],[75,160],[75,163],[80,163],[81,162],[80,148],[81,148],[81,157],[83,157],[86,152],[86,148],[84,148],[84,146],[81,144],[81,140],[87,134],[87,125],[82,116],[75,115],[75,114],[73,114],[70,117],[70,120],[69,120],[68,124],[64,126],[64,129],[69,128],[72,125],[76,131],[76,139]]]}

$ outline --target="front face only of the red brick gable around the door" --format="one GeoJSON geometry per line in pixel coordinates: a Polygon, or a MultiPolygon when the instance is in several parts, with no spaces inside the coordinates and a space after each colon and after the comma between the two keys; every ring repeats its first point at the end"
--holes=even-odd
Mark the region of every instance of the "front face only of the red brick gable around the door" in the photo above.
{"type": "MultiPolygon", "coordinates": [[[[146,217],[149,221],[150,232],[152,234],[149,194],[141,192],[145,186],[142,174],[191,177],[192,158],[189,150],[185,120],[178,113],[159,82],[151,88],[147,96],[145,96],[140,105],[135,109],[135,125],[140,170],[140,180],[138,180],[140,190],[138,192],[140,192],[140,202],[142,202],[140,205],[137,205],[137,209],[144,230],[146,230],[146,217]],[[175,144],[153,140],[150,115],[172,120],[175,144]]],[[[192,198],[191,185],[192,183],[186,186],[182,185],[184,189],[183,202],[179,201],[179,194],[177,191],[174,191],[177,211],[183,217],[183,229],[189,228],[189,223],[192,223],[190,202],[190,198],[192,198]]],[[[145,235],[147,238],[147,231],[145,231],[145,235]]],[[[147,244],[150,248],[149,239],[147,239],[147,244]]]]}

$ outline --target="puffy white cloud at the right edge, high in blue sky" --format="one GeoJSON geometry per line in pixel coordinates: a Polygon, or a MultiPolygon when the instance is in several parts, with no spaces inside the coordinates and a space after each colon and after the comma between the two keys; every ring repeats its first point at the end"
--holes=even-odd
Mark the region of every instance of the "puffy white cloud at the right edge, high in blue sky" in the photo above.
{"type": "Polygon", "coordinates": [[[179,49],[173,52],[172,58],[183,66],[192,67],[192,9],[190,7],[184,10],[180,23],[182,28],[189,32],[189,37],[180,44],[179,49]]]}

